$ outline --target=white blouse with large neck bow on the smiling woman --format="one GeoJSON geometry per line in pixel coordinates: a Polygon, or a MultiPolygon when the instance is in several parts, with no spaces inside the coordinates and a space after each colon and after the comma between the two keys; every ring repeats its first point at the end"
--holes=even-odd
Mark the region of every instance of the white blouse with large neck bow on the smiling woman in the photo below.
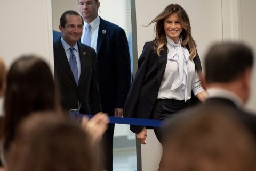
{"type": "Polygon", "coordinates": [[[194,61],[189,59],[189,51],[181,46],[181,42],[182,38],[179,39],[178,44],[175,44],[167,37],[167,64],[158,91],[158,99],[186,101],[191,98],[191,90],[194,95],[204,91],[194,61]]]}

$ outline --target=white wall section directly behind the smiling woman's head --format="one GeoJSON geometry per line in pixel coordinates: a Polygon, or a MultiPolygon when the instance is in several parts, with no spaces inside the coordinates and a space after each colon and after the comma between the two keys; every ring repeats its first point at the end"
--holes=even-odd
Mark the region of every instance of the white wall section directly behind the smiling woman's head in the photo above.
{"type": "Polygon", "coordinates": [[[138,56],[145,42],[155,37],[154,24],[149,27],[143,25],[147,25],[171,3],[181,5],[188,13],[199,56],[203,56],[212,41],[222,40],[221,0],[161,0],[161,3],[154,0],[140,0],[136,1],[138,56]]]}

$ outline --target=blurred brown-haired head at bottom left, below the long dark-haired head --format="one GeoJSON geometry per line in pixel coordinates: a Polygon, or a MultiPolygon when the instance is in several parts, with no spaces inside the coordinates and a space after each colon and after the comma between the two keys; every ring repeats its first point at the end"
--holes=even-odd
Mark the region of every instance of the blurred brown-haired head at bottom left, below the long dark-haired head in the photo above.
{"type": "Polygon", "coordinates": [[[18,126],[7,155],[7,169],[97,170],[95,143],[90,139],[90,134],[63,117],[47,112],[32,114],[18,126]]]}

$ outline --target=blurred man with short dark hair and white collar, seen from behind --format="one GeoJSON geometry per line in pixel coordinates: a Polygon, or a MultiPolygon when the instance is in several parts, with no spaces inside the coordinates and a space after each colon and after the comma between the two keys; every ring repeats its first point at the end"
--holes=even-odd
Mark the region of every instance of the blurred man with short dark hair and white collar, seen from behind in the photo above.
{"type": "MultiPolygon", "coordinates": [[[[217,42],[205,56],[205,87],[209,98],[203,106],[226,106],[242,120],[256,138],[256,116],[246,110],[251,91],[254,55],[242,42],[217,42]]],[[[187,111],[188,112],[188,111],[187,111]]]]}

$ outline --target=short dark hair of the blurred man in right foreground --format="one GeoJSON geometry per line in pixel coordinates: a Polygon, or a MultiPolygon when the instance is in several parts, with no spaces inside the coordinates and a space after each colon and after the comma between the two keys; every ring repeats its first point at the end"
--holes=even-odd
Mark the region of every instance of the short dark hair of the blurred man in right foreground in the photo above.
{"type": "Polygon", "coordinates": [[[236,42],[216,43],[206,53],[205,79],[207,83],[234,81],[252,66],[250,47],[236,42]]]}

